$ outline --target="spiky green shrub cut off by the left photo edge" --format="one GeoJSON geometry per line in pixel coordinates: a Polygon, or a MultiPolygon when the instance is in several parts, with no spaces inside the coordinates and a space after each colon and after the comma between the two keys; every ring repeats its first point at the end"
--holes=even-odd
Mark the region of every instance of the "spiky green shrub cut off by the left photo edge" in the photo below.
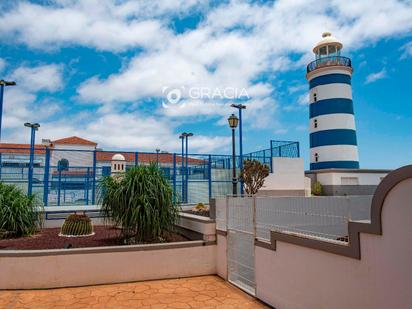
{"type": "Polygon", "coordinates": [[[6,236],[33,234],[41,224],[40,206],[35,195],[0,182],[0,230],[6,236]]]}

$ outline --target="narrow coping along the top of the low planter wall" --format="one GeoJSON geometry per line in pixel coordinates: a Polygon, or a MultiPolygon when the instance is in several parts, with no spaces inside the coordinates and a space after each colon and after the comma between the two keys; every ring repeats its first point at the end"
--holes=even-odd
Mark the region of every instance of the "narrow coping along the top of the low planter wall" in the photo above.
{"type": "Polygon", "coordinates": [[[59,256],[73,254],[91,254],[91,253],[116,253],[116,252],[137,252],[137,251],[154,251],[165,249],[181,249],[190,247],[201,247],[215,245],[216,241],[192,240],[182,242],[170,242],[159,244],[143,245],[125,245],[125,246],[107,246],[107,247],[90,247],[90,248],[73,248],[73,249],[44,249],[44,250],[0,250],[0,258],[4,257],[36,257],[36,256],[59,256]]]}

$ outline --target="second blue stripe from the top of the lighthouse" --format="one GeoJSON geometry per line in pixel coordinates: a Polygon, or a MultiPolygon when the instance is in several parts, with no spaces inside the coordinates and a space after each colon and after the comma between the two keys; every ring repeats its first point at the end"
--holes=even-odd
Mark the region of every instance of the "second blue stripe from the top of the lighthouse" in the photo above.
{"type": "Polygon", "coordinates": [[[326,99],[309,105],[310,118],[327,114],[352,114],[353,102],[351,99],[326,99]]]}

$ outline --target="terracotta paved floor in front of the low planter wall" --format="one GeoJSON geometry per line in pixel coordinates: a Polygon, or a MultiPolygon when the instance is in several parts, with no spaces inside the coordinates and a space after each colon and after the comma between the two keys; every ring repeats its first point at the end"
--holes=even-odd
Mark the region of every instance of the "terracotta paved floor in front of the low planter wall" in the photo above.
{"type": "Polygon", "coordinates": [[[216,276],[79,288],[0,291],[0,308],[264,308],[216,276]]]}

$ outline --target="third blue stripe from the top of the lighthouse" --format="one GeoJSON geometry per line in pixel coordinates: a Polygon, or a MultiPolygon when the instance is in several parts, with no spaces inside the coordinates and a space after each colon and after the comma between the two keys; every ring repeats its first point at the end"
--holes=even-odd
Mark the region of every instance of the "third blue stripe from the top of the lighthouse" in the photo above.
{"type": "Polygon", "coordinates": [[[328,145],[357,145],[356,131],[333,129],[310,133],[310,147],[328,145]]]}

